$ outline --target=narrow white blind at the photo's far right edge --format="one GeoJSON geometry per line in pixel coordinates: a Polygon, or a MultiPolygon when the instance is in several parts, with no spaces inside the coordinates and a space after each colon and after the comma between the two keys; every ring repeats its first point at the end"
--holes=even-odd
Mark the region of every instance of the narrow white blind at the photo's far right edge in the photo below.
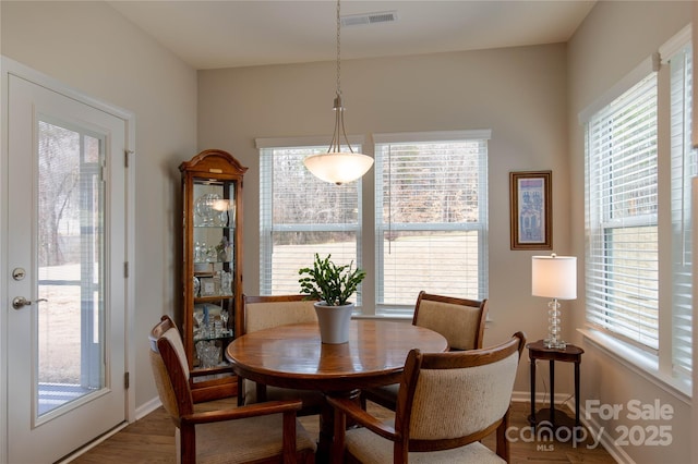
{"type": "Polygon", "coordinates": [[[672,154],[672,359],[676,374],[690,377],[693,340],[691,297],[691,178],[697,175],[696,150],[691,149],[690,46],[669,60],[671,68],[672,154]]]}

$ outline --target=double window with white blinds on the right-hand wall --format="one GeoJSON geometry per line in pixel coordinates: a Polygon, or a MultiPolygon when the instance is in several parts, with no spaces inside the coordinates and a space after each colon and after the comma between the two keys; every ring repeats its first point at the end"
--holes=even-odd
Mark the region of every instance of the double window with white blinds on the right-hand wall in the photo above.
{"type": "Polygon", "coordinates": [[[587,320],[654,354],[658,375],[671,373],[685,392],[693,370],[691,184],[698,175],[689,44],[690,32],[683,30],[661,50],[666,78],[647,69],[586,123],[587,320]]]}

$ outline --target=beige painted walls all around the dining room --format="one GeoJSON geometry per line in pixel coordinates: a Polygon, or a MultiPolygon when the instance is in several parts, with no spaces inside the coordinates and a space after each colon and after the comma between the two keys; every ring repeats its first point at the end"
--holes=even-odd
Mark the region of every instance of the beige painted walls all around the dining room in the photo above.
{"type": "MultiPolygon", "coordinates": [[[[103,2],[0,2],[1,52],[136,117],[137,353],[172,313],[179,172],[205,148],[250,168],[245,190],[245,291],[258,289],[258,162],[255,137],[329,135],[334,63],[202,71],[196,75],[103,2]],[[198,82],[197,82],[198,81],[198,82]]],[[[583,262],[583,143],[577,113],[689,21],[689,3],[600,2],[570,44],[342,62],[347,129],[372,132],[491,129],[490,300],[485,343],[525,330],[545,334],[546,302],[530,296],[530,256],[509,249],[508,172],[552,170],[554,251],[583,262]],[[630,19],[627,19],[630,15],[630,19]],[[661,21],[660,21],[661,19],[661,21]]],[[[346,45],[347,47],[349,45],[346,45]]],[[[370,202],[373,180],[364,182],[370,202]]],[[[372,258],[372,257],[369,257],[372,258]]],[[[366,262],[371,262],[366,259],[366,262]]],[[[580,296],[583,282],[580,276],[580,296]]],[[[630,450],[637,462],[689,462],[683,403],[586,344],[583,297],[563,304],[564,337],[587,350],[582,400],[660,398],[678,411],[669,450],[630,450]],[[573,323],[574,322],[574,323],[573,323]]],[[[139,356],[136,406],[155,398],[139,356]]],[[[557,389],[570,392],[570,366],[557,389]]],[[[541,368],[542,376],[545,369],[541,368]]],[[[528,390],[527,363],[516,390],[528,390]]],[[[629,451],[629,453],[630,453],[629,451]]]]}

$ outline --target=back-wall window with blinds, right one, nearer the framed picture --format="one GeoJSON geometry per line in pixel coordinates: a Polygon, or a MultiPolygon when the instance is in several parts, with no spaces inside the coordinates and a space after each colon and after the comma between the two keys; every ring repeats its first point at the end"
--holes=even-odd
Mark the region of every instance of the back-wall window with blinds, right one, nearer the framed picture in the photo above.
{"type": "Polygon", "coordinates": [[[374,134],[376,314],[488,294],[490,131],[374,134]]]}

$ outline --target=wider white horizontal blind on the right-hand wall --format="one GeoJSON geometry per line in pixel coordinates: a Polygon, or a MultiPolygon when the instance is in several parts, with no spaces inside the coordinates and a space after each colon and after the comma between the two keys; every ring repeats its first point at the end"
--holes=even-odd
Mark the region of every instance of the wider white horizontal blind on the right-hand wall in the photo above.
{"type": "Polygon", "coordinates": [[[657,73],[587,123],[587,319],[659,347],[657,73]]]}

